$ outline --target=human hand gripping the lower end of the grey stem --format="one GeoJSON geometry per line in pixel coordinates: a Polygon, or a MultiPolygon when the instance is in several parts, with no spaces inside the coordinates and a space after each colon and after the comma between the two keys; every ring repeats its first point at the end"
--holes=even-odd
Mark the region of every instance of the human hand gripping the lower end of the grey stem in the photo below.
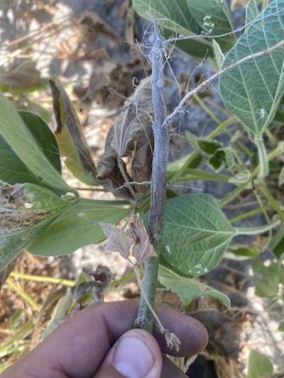
{"type": "Polygon", "coordinates": [[[168,350],[163,335],[155,338],[131,329],[137,301],[94,304],[70,318],[33,351],[9,367],[1,378],[182,378],[162,353],[192,356],[207,344],[202,324],[169,306],[158,306],[163,326],[181,341],[168,350]],[[162,351],[162,352],[161,352],[162,351]]]}

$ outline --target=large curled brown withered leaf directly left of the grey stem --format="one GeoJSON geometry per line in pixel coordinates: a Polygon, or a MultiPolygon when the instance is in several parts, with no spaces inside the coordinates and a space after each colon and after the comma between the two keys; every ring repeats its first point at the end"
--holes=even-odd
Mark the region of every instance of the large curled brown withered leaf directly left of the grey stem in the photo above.
{"type": "MultiPolygon", "coordinates": [[[[144,79],[126,101],[124,111],[109,130],[105,152],[97,166],[97,178],[115,196],[133,199],[133,193],[124,186],[125,178],[129,182],[144,182],[151,179],[152,115],[151,82],[149,79],[144,79]],[[129,160],[129,165],[124,164],[122,157],[129,160]],[[122,167],[119,166],[119,161],[122,167]]],[[[143,194],[148,187],[134,184],[133,190],[136,194],[143,194]]]]}

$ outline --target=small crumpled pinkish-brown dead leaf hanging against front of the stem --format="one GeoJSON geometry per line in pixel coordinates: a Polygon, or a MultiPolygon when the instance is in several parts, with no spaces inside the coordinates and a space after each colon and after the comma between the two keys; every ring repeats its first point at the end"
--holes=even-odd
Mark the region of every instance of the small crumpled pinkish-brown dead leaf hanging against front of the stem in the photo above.
{"type": "Polygon", "coordinates": [[[137,214],[131,217],[128,232],[132,240],[131,253],[138,263],[145,262],[150,257],[157,257],[148,233],[137,214]]]}

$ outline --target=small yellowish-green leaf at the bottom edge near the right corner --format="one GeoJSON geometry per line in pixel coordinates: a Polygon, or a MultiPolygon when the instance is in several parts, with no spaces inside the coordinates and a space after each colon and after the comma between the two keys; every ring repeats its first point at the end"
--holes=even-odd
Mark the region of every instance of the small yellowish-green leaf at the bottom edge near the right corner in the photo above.
{"type": "Polygon", "coordinates": [[[257,350],[249,353],[249,371],[247,378],[261,378],[273,374],[273,365],[266,355],[257,350]]]}

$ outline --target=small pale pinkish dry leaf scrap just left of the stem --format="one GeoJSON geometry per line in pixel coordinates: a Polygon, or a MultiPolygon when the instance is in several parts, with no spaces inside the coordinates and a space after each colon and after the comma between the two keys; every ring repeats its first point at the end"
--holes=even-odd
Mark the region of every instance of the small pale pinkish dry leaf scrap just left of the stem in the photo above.
{"type": "Polygon", "coordinates": [[[107,236],[106,250],[119,252],[119,255],[127,259],[130,254],[131,238],[118,227],[111,223],[100,223],[102,230],[107,236]]]}

